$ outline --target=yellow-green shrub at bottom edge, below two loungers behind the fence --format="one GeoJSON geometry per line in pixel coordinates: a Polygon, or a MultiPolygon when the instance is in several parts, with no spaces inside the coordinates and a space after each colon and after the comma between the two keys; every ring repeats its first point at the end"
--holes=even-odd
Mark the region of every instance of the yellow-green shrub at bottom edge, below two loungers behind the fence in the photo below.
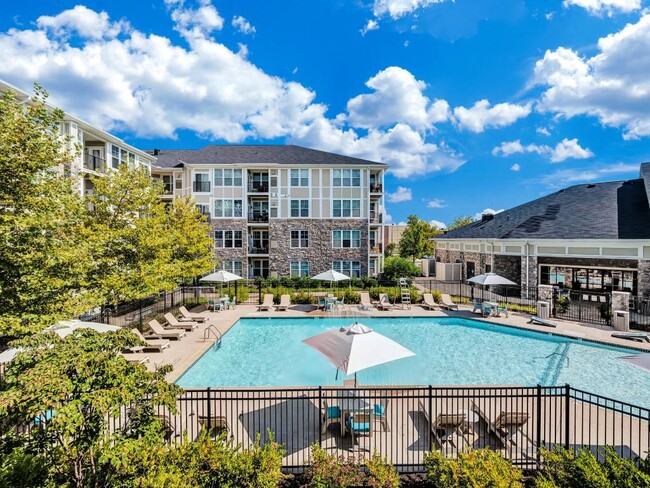
{"type": "Polygon", "coordinates": [[[521,470],[491,449],[461,452],[458,459],[447,459],[439,451],[433,451],[426,456],[424,467],[429,483],[436,488],[523,486],[521,470]]]}

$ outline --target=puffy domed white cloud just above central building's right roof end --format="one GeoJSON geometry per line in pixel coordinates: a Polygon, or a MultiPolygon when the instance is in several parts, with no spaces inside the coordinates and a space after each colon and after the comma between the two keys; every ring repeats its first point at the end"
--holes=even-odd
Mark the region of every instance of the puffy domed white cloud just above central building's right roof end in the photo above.
{"type": "Polygon", "coordinates": [[[366,82],[373,93],[358,95],[348,101],[348,120],[357,127],[376,129],[403,122],[418,129],[449,118],[445,100],[431,102],[422,94],[423,81],[404,68],[390,66],[366,82]]]}

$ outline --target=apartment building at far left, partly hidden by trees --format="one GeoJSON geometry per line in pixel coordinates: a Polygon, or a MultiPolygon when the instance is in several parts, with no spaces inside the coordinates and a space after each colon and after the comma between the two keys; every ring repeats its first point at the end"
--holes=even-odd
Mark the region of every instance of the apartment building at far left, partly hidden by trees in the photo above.
{"type": "MultiPolygon", "coordinates": [[[[29,103],[31,95],[0,80],[0,93],[14,91],[19,100],[29,103]]],[[[59,107],[65,111],[65,107],[59,107]]],[[[155,157],[141,151],[67,112],[59,126],[59,133],[66,137],[67,149],[75,156],[64,168],[63,174],[71,176],[82,195],[91,195],[91,176],[101,176],[116,169],[120,164],[140,165],[151,171],[155,157]]]]}

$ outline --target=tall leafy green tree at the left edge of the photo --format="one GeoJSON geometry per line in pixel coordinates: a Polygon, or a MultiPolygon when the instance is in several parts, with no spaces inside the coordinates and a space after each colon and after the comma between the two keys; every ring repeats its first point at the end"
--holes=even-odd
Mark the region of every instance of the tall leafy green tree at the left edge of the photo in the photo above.
{"type": "Polygon", "coordinates": [[[0,99],[0,333],[22,335],[94,306],[86,287],[86,211],[63,178],[73,154],[60,110],[36,86],[31,103],[0,99]],[[53,168],[63,168],[55,171],[53,168]]]}

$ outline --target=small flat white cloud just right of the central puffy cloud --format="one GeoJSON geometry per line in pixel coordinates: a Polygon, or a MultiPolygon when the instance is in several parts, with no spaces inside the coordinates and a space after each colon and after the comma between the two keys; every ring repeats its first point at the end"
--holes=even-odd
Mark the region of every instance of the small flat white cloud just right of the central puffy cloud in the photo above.
{"type": "Polygon", "coordinates": [[[525,105],[499,103],[490,107],[488,100],[479,100],[470,108],[456,107],[454,117],[462,129],[478,133],[487,128],[514,124],[517,120],[527,117],[531,109],[530,102],[525,105]]]}

